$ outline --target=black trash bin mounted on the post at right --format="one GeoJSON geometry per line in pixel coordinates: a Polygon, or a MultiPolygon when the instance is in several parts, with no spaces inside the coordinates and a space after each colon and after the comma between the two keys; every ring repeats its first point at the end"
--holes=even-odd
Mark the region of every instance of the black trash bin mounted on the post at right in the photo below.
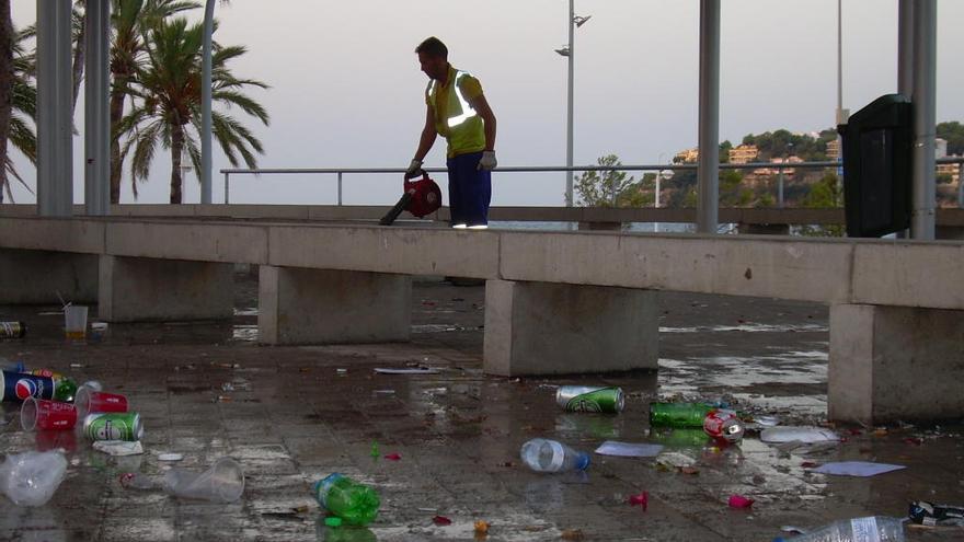
{"type": "Polygon", "coordinates": [[[837,127],[842,139],[847,235],[879,238],[910,227],[910,100],[885,94],[837,127]]]}

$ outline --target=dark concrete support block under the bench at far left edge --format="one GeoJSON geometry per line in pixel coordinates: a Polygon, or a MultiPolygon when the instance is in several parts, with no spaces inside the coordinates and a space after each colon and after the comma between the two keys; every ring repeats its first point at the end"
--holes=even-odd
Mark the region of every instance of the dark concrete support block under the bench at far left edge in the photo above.
{"type": "Polygon", "coordinates": [[[0,251],[0,303],[94,303],[97,255],[69,252],[0,251]]]}

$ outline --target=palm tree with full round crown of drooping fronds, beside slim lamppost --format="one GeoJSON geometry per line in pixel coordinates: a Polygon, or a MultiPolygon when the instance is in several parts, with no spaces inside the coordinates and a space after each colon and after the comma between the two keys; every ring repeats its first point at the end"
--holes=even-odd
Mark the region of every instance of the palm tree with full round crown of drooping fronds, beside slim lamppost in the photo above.
{"type": "MultiPolygon", "coordinates": [[[[217,30],[217,24],[215,25],[217,30]]],[[[171,151],[171,203],[182,203],[181,155],[186,150],[195,170],[200,166],[200,151],[196,135],[200,130],[200,70],[204,25],[188,25],[183,18],[158,21],[146,41],[146,66],[138,71],[135,105],[118,127],[119,134],[129,135],[120,152],[122,160],[131,157],[130,171],[135,178],[147,180],[154,151],[160,143],[171,151]],[[187,129],[188,126],[193,130],[187,129]]],[[[211,54],[211,101],[238,107],[264,125],[268,124],[265,108],[242,92],[245,87],[267,89],[253,79],[236,78],[227,64],[246,53],[245,47],[221,47],[214,44],[211,54]]],[[[261,141],[236,118],[211,113],[211,131],[228,157],[238,165],[238,157],[249,168],[256,168],[254,152],[263,152],[261,141]]]]}

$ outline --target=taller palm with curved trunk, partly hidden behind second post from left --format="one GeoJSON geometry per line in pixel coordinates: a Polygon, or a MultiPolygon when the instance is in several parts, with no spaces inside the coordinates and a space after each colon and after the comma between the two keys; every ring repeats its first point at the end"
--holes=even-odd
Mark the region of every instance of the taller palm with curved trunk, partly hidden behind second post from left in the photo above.
{"type": "MultiPolygon", "coordinates": [[[[120,200],[120,134],[124,102],[130,94],[130,84],[145,62],[145,35],[148,28],[168,16],[193,10],[199,4],[190,0],[114,0],[111,23],[114,27],[111,44],[111,203],[120,200]]],[[[137,197],[137,183],[131,182],[137,197]]]]}

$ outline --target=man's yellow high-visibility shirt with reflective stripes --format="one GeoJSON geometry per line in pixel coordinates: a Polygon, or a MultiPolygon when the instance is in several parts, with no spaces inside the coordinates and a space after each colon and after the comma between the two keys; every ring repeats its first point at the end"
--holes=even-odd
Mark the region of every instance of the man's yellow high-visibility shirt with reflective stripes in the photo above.
{"type": "Polygon", "coordinates": [[[435,130],[448,141],[448,158],[485,150],[482,117],[469,102],[482,95],[482,84],[449,65],[445,85],[432,80],[425,89],[425,103],[435,113],[435,130]]]}

